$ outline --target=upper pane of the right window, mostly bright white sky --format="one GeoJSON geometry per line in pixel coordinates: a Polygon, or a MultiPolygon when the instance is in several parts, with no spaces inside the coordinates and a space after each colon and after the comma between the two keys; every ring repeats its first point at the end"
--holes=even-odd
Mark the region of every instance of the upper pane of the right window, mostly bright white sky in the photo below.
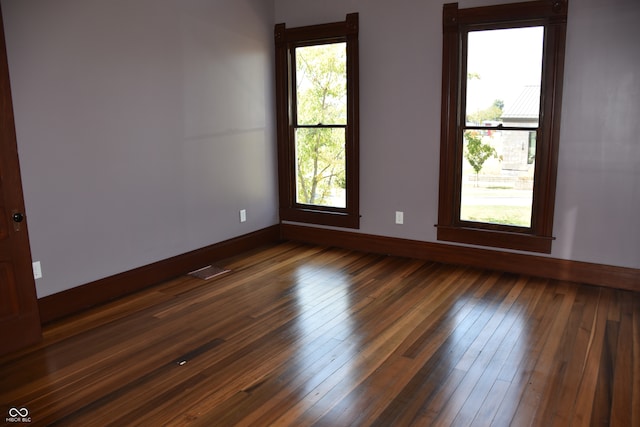
{"type": "Polygon", "coordinates": [[[469,32],[469,125],[538,126],[543,38],[543,27],[469,32]]]}

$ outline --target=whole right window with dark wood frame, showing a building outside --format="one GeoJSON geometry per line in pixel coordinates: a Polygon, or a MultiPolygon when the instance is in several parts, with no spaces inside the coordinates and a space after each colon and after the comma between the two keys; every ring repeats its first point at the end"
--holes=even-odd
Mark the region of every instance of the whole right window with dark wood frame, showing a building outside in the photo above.
{"type": "Polygon", "coordinates": [[[566,7],[444,5],[439,240],[551,252],[566,7]]]}

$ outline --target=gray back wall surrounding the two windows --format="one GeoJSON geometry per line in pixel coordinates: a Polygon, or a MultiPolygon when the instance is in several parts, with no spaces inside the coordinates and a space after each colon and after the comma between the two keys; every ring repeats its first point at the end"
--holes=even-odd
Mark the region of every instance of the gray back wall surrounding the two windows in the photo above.
{"type": "MultiPolygon", "coordinates": [[[[361,232],[436,241],[446,2],[275,0],[288,27],[360,13],[361,232]]],[[[569,0],[555,258],[640,268],[638,19],[638,0],[569,0]]]]}

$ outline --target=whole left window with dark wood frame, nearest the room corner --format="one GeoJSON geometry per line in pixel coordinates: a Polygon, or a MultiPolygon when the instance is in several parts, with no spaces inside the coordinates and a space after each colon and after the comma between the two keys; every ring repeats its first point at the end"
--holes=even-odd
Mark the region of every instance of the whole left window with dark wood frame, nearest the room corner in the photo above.
{"type": "Polygon", "coordinates": [[[280,218],[359,228],[358,14],[275,42],[280,218]]]}

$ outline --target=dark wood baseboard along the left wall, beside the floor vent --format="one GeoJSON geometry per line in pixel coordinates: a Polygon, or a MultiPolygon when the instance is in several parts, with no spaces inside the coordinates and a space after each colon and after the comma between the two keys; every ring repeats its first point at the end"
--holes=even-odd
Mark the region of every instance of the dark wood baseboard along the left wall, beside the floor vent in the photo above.
{"type": "Polygon", "coordinates": [[[274,225],[225,240],[183,255],[158,261],[38,300],[40,320],[48,323],[131,294],[195,270],[207,263],[229,258],[256,247],[277,242],[280,226],[274,225]]]}

